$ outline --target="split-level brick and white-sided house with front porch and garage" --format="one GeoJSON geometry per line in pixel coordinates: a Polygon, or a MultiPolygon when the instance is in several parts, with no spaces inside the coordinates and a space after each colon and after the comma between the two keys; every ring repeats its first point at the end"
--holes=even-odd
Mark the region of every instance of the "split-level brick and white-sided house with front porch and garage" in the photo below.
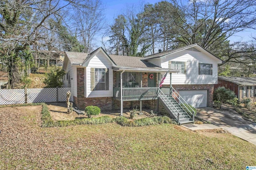
{"type": "Polygon", "coordinates": [[[219,63],[223,61],[197,44],[147,57],[108,55],[100,47],[92,53],[65,52],[63,82],[82,109],[120,108],[122,115],[123,108],[149,107],[187,122],[180,104],[212,107],[219,63]]]}

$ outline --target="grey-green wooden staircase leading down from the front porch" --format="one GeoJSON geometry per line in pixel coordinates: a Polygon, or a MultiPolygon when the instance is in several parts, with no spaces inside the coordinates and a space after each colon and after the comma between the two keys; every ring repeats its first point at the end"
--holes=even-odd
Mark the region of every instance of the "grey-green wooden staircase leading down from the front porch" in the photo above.
{"type": "MultiPolygon", "coordinates": [[[[178,94],[178,93],[177,93],[178,94]]],[[[174,94],[175,95],[175,94],[174,94]]],[[[178,96],[175,95],[176,98],[178,96]]],[[[183,102],[180,102],[180,104],[172,97],[172,95],[166,95],[164,94],[160,89],[158,93],[158,98],[160,103],[164,106],[166,111],[170,114],[170,116],[173,119],[176,119],[176,121],[181,124],[186,123],[194,123],[194,114],[190,113],[190,115],[193,115],[192,117],[183,109],[183,107],[180,106],[180,104],[183,104],[183,102]]]]}

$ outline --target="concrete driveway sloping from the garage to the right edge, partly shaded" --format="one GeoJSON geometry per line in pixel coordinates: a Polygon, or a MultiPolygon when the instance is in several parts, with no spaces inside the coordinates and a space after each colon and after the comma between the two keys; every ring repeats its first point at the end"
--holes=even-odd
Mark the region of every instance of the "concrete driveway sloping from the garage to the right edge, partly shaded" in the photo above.
{"type": "Polygon", "coordinates": [[[222,127],[241,139],[256,145],[256,123],[244,120],[240,114],[233,109],[223,108],[219,111],[210,107],[196,109],[196,116],[210,121],[218,127],[222,127]]]}

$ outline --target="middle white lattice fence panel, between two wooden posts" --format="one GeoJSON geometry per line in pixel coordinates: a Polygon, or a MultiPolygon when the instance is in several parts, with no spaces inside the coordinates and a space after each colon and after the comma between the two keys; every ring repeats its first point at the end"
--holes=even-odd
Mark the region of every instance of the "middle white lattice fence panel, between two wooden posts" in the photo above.
{"type": "Polygon", "coordinates": [[[56,88],[28,88],[28,103],[56,102],[56,88]]]}

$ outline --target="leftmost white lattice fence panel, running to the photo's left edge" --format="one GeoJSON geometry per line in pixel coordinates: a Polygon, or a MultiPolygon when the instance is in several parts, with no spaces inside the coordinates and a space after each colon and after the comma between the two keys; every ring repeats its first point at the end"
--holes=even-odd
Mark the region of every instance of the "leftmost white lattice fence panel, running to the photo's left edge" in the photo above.
{"type": "Polygon", "coordinates": [[[25,103],[24,89],[2,89],[0,90],[0,105],[25,103]]]}

